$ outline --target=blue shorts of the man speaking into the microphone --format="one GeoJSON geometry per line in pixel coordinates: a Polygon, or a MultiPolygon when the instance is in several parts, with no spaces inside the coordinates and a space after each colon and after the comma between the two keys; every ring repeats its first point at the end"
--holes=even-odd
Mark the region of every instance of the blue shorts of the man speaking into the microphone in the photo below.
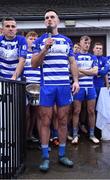
{"type": "Polygon", "coordinates": [[[69,85],[45,85],[40,88],[40,106],[52,107],[55,104],[57,106],[66,106],[71,102],[72,94],[69,85]]]}

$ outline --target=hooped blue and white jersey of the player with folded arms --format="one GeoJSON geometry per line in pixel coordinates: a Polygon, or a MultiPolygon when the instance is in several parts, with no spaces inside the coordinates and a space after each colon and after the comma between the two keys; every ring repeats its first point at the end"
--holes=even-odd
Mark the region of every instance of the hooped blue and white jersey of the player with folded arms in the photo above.
{"type": "MultiPolygon", "coordinates": [[[[77,53],[75,55],[75,59],[78,65],[78,68],[80,69],[90,69],[95,66],[98,67],[98,60],[97,57],[87,53],[87,54],[82,54],[82,53],[77,53]]],[[[93,84],[93,77],[94,76],[84,76],[79,78],[79,85],[81,88],[88,87],[91,88],[94,86],[93,84]]]]}

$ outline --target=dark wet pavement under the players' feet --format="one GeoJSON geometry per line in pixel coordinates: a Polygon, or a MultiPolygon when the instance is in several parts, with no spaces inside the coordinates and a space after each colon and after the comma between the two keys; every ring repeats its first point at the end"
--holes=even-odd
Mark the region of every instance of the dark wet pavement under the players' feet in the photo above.
{"type": "Polygon", "coordinates": [[[73,168],[58,164],[58,149],[52,146],[50,170],[39,171],[41,152],[36,145],[27,149],[26,169],[20,179],[110,179],[110,141],[93,144],[87,136],[80,138],[78,145],[67,143],[68,157],[74,161],[73,168]]]}

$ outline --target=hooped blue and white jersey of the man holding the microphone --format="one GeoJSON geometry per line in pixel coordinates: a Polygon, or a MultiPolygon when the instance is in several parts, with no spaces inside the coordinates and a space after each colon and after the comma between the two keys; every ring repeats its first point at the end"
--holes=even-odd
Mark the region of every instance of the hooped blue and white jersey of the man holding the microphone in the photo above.
{"type": "MultiPolygon", "coordinates": [[[[48,34],[45,33],[35,40],[33,53],[39,53],[45,45],[48,34]]],[[[54,44],[46,54],[41,69],[42,85],[70,85],[69,58],[73,56],[71,40],[61,34],[52,35],[54,44]]]]}

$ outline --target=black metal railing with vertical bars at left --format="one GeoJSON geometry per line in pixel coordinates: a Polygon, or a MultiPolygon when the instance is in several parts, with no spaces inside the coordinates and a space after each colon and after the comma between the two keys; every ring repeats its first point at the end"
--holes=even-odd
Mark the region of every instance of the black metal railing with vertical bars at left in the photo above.
{"type": "Polygon", "coordinates": [[[0,179],[16,177],[25,160],[25,83],[0,79],[0,179]]]}

